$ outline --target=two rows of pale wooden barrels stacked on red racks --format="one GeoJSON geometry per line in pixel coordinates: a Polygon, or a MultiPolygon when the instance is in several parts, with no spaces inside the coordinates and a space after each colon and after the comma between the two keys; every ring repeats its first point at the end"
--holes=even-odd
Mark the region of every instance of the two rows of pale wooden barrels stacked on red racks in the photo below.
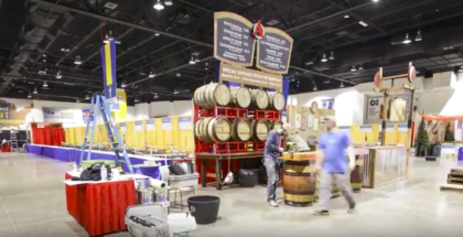
{"type": "MultiPolygon", "coordinates": [[[[278,91],[230,87],[225,84],[207,84],[197,88],[193,96],[195,105],[204,109],[219,107],[250,108],[258,110],[284,109],[284,97],[278,91]]],[[[226,117],[201,118],[195,122],[194,136],[206,143],[225,141],[266,141],[267,133],[280,128],[281,121],[228,119],[226,117]]]]}

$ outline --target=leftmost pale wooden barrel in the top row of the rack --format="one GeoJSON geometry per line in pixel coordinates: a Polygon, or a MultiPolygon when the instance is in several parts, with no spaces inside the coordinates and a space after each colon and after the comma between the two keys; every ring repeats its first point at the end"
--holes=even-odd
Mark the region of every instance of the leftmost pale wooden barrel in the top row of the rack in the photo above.
{"type": "Polygon", "coordinates": [[[207,84],[194,91],[193,101],[197,106],[212,109],[214,106],[227,106],[230,101],[230,90],[224,84],[207,84]]]}

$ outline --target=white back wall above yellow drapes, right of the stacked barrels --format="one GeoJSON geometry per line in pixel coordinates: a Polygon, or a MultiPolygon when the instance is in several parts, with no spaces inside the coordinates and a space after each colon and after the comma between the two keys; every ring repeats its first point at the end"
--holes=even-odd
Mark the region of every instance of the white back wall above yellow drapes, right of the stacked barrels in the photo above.
{"type": "MultiPolygon", "coordinates": [[[[395,85],[402,85],[406,78],[396,79],[395,85]]],[[[390,87],[390,80],[383,85],[390,87]]],[[[412,83],[416,88],[414,105],[418,111],[433,115],[462,115],[463,114],[463,74],[453,72],[437,73],[432,78],[418,77],[412,83]]],[[[366,95],[380,95],[373,91],[373,83],[365,83],[349,88],[314,91],[292,95],[288,98],[289,105],[310,106],[322,99],[334,98],[336,121],[340,126],[362,125],[366,95]]]]}

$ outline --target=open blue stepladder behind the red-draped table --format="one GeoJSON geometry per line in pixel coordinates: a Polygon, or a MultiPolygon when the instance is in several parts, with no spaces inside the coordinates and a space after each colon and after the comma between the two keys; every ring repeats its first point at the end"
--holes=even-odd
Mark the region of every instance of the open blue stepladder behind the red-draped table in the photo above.
{"type": "Polygon", "coordinates": [[[108,138],[111,144],[111,149],[116,154],[116,160],[115,160],[116,165],[122,166],[121,163],[125,162],[127,168],[129,169],[129,172],[133,173],[132,164],[130,162],[129,157],[127,155],[126,146],[119,136],[119,131],[117,130],[116,122],[112,119],[111,111],[108,106],[108,101],[106,100],[106,97],[100,94],[96,94],[91,97],[90,115],[87,121],[87,127],[85,128],[84,143],[82,143],[80,160],[78,164],[82,165],[82,161],[84,160],[85,147],[87,144],[88,138],[90,138],[90,142],[88,146],[87,158],[85,160],[88,161],[91,158],[91,144],[94,143],[94,134],[95,134],[95,127],[96,127],[96,120],[98,117],[98,111],[101,112],[103,122],[105,123],[106,131],[108,132],[108,138]],[[91,129],[90,136],[88,136],[88,129],[91,129]],[[115,140],[115,137],[117,140],[115,140]],[[119,144],[119,148],[117,143],[119,144]],[[123,154],[123,160],[120,159],[120,152],[122,152],[123,154]]]}

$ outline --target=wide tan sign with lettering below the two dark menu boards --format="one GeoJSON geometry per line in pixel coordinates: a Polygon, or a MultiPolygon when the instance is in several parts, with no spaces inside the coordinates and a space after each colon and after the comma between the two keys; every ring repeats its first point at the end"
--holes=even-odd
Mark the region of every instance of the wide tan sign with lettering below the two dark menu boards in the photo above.
{"type": "Polygon", "coordinates": [[[239,84],[265,87],[279,90],[283,85],[283,77],[255,69],[220,64],[219,80],[235,82],[239,84]]]}

